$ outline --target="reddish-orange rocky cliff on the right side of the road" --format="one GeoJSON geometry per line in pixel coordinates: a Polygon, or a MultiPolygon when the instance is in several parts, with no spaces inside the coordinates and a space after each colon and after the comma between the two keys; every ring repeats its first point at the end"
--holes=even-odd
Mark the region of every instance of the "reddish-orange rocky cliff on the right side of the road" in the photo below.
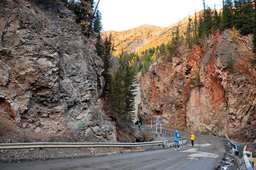
{"type": "Polygon", "coordinates": [[[139,118],[149,122],[152,115],[179,129],[256,139],[253,37],[231,37],[226,30],[191,50],[181,44],[172,60],[152,68],[140,81],[139,118]],[[192,85],[197,70],[200,81],[192,85]]]}

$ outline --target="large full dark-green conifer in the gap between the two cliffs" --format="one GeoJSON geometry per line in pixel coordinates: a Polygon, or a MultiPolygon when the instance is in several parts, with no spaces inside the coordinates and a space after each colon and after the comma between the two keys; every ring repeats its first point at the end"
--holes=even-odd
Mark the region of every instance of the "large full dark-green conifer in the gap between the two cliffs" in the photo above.
{"type": "Polygon", "coordinates": [[[124,54],[121,51],[119,55],[120,67],[116,72],[116,75],[110,85],[110,93],[108,97],[110,110],[116,121],[126,123],[127,125],[132,124],[134,119],[134,106],[136,96],[134,83],[136,78],[134,71],[129,65],[128,54],[124,54]]]}

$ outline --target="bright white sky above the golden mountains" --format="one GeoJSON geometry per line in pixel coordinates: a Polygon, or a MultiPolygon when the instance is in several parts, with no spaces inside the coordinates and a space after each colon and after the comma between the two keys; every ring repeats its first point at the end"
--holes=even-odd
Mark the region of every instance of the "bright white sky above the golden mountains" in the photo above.
{"type": "MultiPolygon", "coordinates": [[[[96,0],[97,1],[97,0],[96,0]]],[[[207,6],[222,7],[222,0],[205,0],[207,6]]],[[[128,30],[144,24],[167,27],[194,11],[202,0],[100,0],[103,31],[128,30]]]]}

